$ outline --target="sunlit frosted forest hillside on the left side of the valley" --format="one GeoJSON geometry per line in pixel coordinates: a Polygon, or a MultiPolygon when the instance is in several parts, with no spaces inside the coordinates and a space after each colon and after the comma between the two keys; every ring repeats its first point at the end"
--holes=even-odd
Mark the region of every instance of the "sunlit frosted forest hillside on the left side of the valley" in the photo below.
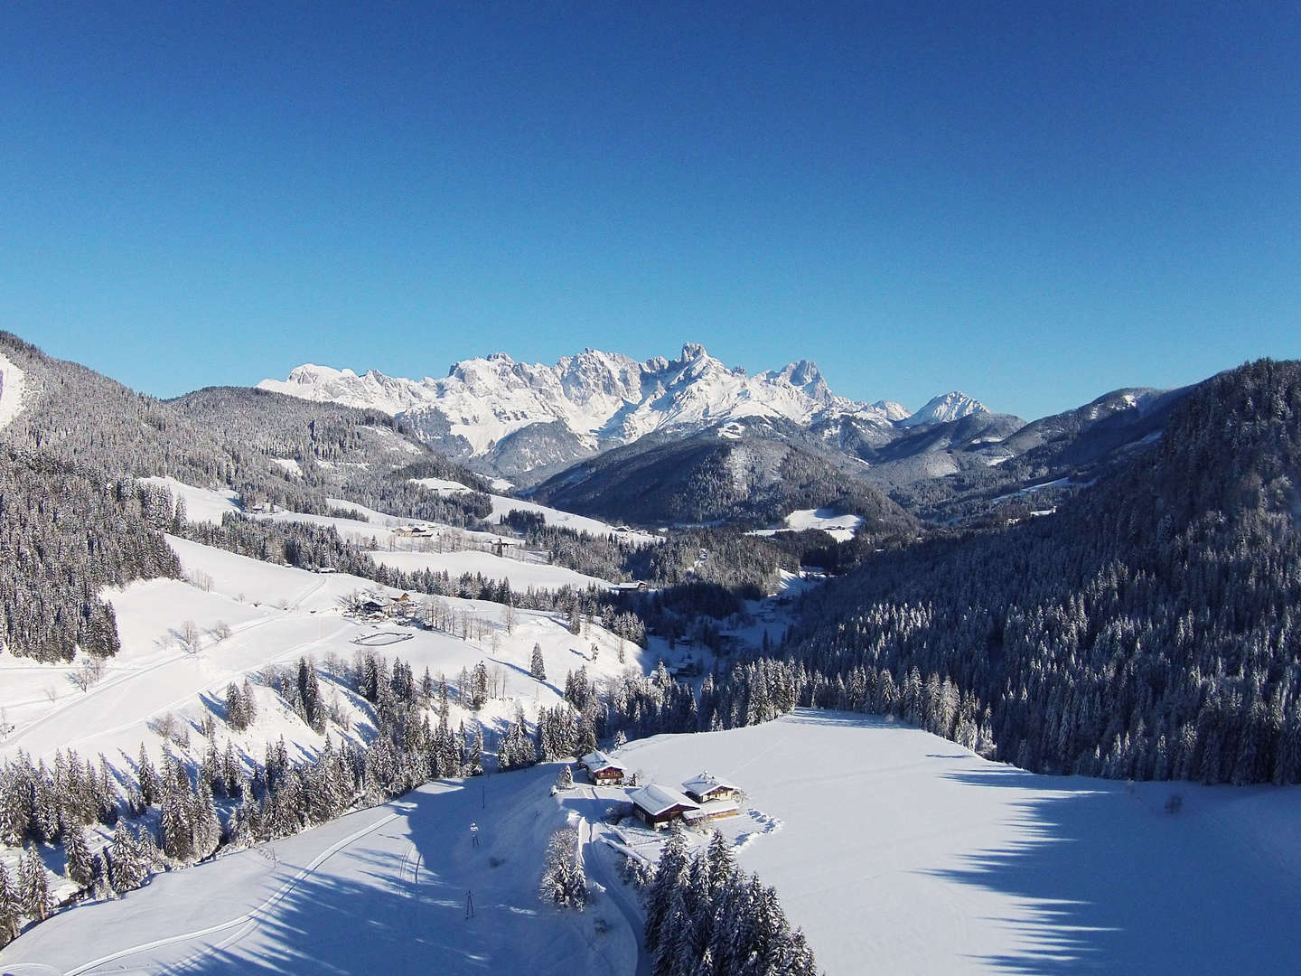
{"type": "Polygon", "coordinates": [[[440,496],[412,484],[445,476],[481,487],[381,414],[241,390],[163,402],[10,333],[0,332],[0,354],[25,385],[21,411],[0,429],[0,640],[16,655],[68,660],[78,645],[113,653],[112,609],[99,592],[180,573],[159,528],[180,524],[183,511],[137,478],[172,476],[306,513],[327,513],[332,493],[451,524],[490,511],[477,492],[440,496]],[[302,463],[286,470],[276,458],[302,463]]]}

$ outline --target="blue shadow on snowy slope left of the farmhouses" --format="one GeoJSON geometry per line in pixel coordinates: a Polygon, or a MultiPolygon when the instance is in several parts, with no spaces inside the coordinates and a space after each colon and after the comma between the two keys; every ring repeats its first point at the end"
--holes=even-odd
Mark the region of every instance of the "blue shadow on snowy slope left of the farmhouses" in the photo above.
{"type": "Polygon", "coordinates": [[[537,832],[537,817],[554,817],[554,776],[543,766],[406,794],[394,804],[405,819],[325,861],[256,930],[167,972],[476,973],[509,962],[530,963],[530,972],[565,971],[592,940],[558,925],[557,912],[533,897],[544,845],[520,843],[537,832]],[[528,878],[523,886],[520,877],[528,878]],[[522,959],[522,949],[539,958],[522,959]]]}

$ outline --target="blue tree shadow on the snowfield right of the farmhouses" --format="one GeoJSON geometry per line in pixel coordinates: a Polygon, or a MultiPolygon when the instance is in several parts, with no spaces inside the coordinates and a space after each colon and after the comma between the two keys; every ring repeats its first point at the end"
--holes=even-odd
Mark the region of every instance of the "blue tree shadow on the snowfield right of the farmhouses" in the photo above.
{"type": "Polygon", "coordinates": [[[1287,872],[1266,877],[1258,852],[1232,838],[1222,843],[1223,829],[1207,829],[1216,824],[1189,817],[1187,807],[1164,812],[1170,793],[1198,787],[1128,790],[1011,766],[950,778],[1042,794],[1016,804],[1024,841],[967,855],[959,869],[929,872],[1029,903],[1029,924],[989,919],[1016,929],[1025,947],[985,956],[986,966],[1045,976],[1296,973],[1301,936],[1288,906],[1301,898],[1301,880],[1287,872]]]}

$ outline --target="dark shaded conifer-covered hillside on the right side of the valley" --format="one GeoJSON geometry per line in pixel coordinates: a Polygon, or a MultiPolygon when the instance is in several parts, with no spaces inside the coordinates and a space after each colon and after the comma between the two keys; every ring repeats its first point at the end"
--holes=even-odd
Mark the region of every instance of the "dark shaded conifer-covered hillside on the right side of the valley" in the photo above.
{"type": "Polygon", "coordinates": [[[805,696],[1028,769],[1301,781],[1301,363],[1207,380],[1056,515],[879,553],[805,603],[805,696]]]}

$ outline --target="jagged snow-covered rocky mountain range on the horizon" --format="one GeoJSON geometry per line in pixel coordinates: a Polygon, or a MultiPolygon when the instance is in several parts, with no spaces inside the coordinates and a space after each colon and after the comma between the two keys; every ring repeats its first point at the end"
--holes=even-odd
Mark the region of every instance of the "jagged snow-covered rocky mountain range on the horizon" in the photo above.
{"type": "Polygon", "coordinates": [[[455,363],[442,379],[420,380],[304,364],[285,380],[258,385],[401,415],[427,442],[506,474],[556,467],[649,433],[695,433],[736,420],[812,427],[851,419],[892,429],[987,413],[961,393],[937,397],[917,414],[899,403],[865,403],[831,393],[807,359],[748,375],[696,344],[684,345],[677,359],[645,362],[596,349],[554,366],[496,353],[455,363]]]}

